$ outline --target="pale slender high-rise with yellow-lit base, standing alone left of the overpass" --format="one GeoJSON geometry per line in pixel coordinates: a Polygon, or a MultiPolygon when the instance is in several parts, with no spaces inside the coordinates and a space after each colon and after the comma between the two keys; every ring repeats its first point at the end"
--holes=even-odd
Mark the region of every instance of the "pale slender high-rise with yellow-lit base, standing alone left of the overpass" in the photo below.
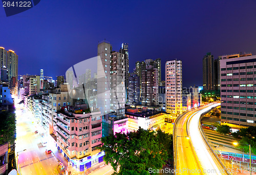
{"type": "Polygon", "coordinates": [[[182,113],[182,62],[165,63],[165,103],[166,112],[175,115],[182,113]]]}

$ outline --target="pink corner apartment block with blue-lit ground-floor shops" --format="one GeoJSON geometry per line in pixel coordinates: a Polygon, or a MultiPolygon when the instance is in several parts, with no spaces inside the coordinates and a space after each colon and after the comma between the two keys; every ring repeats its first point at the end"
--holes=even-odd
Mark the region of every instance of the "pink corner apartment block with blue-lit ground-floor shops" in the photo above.
{"type": "Polygon", "coordinates": [[[88,113],[86,109],[77,112],[77,107],[63,107],[54,116],[57,136],[57,149],[77,168],[86,168],[103,161],[104,152],[101,145],[101,114],[88,113]]]}

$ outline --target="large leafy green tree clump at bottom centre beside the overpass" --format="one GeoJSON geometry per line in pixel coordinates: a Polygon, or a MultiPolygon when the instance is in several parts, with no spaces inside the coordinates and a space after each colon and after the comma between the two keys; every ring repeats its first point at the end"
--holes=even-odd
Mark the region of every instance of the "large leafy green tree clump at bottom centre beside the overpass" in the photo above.
{"type": "Polygon", "coordinates": [[[100,149],[105,152],[104,161],[111,164],[114,174],[149,174],[149,168],[162,168],[173,154],[172,135],[161,131],[151,132],[139,128],[136,132],[116,133],[101,141],[100,149]]]}

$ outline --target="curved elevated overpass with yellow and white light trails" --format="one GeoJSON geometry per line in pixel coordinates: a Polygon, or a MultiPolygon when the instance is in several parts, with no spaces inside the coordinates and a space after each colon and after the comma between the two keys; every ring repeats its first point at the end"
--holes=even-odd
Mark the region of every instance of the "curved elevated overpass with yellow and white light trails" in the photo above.
{"type": "Polygon", "coordinates": [[[177,118],[174,128],[176,174],[229,174],[211,151],[199,124],[201,114],[217,106],[220,103],[211,103],[177,118]]]}

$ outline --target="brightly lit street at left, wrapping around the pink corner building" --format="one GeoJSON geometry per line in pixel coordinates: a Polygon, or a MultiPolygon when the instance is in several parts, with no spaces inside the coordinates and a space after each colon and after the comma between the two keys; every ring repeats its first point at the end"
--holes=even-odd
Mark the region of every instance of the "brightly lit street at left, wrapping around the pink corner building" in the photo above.
{"type": "MultiPolygon", "coordinates": [[[[15,103],[18,102],[17,99],[15,103]]],[[[16,148],[15,155],[18,155],[18,172],[21,174],[58,174],[56,169],[58,160],[68,168],[67,160],[59,153],[54,139],[46,134],[44,128],[39,126],[38,118],[35,118],[30,111],[27,111],[23,105],[15,104],[16,107],[16,148]],[[24,109],[23,109],[24,108],[24,109]],[[35,133],[38,131],[38,133],[35,133]],[[42,146],[41,138],[44,135],[47,140],[46,146],[42,146]],[[52,153],[46,154],[46,149],[51,149],[52,153]]],[[[69,166],[69,171],[75,174],[83,172],[75,171],[75,168],[69,166]]],[[[112,174],[114,172],[110,165],[101,168],[89,168],[90,174],[112,174]]]]}

